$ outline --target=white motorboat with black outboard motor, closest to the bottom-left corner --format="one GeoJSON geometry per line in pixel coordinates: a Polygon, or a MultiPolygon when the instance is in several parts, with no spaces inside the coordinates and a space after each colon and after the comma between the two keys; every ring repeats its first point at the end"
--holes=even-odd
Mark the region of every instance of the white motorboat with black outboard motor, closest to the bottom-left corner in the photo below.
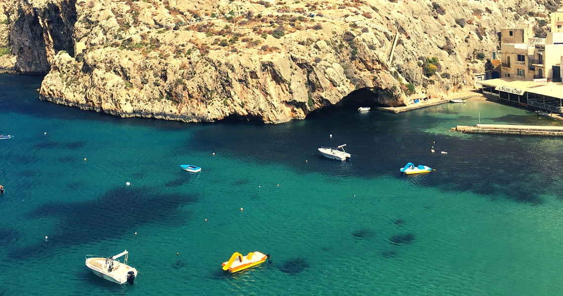
{"type": "Polygon", "coordinates": [[[94,255],[86,256],[86,266],[92,270],[92,272],[108,281],[117,282],[117,284],[133,284],[135,277],[137,276],[137,270],[131,266],[127,265],[127,257],[129,252],[125,250],[115,256],[110,256],[108,258],[104,257],[94,257],[94,255]],[[123,263],[120,263],[117,258],[125,255],[123,263]]]}

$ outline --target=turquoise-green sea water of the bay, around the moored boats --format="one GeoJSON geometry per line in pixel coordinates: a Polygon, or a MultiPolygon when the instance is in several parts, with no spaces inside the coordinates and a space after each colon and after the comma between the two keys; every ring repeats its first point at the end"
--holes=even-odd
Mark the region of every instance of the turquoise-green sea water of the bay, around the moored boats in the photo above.
{"type": "Polygon", "coordinates": [[[42,102],[40,83],[0,75],[0,133],[14,135],[0,141],[0,295],[563,293],[563,140],[450,131],[558,122],[468,100],[186,124],[42,102]],[[316,152],[343,143],[348,162],[316,152]],[[407,162],[436,171],[400,176],[407,162]],[[133,286],[84,266],[124,249],[133,286]],[[221,272],[254,250],[271,263],[221,272]],[[294,258],[309,267],[284,272],[294,258]]]}

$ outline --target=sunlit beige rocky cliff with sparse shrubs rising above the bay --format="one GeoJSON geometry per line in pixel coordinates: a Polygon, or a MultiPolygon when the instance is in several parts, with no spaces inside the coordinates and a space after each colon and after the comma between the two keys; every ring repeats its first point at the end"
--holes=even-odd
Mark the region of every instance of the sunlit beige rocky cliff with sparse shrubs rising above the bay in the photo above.
{"type": "Polygon", "coordinates": [[[43,100],[186,122],[287,122],[343,104],[356,89],[396,106],[407,94],[472,88],[502,27],[541,33],[538,20],[556,8],[516,0],[10,1],[0,4],[0,50],[10,51],[0,69],[47,73],[43,100]]]}

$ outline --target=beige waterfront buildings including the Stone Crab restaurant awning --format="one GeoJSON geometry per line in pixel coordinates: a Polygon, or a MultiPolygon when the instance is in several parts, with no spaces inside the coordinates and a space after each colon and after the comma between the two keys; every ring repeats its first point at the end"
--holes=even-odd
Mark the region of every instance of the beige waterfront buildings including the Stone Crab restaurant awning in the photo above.
{"type": "Polygon", "coordinates": [[[563,114],[563,10],[551,14],[551,32],[501,29],[501,77],[482,82],[485,95],[563,114]]]}

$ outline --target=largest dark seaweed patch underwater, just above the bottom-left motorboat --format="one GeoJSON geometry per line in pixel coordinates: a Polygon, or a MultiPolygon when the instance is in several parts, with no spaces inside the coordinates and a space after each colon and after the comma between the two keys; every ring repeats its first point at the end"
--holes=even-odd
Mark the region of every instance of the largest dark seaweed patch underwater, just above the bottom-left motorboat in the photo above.
{"type": "Polygon", "coordinates": [[[47,248],[111,239],[144,223],[185,223],[189,216],[180,206],[198,198],[197,194],[162,194],[153,187],[117,187],[96,200],[47,203],[29,216],[58,219],[57,231],[49,235],[48,242],[17,248],[11,256],[25,258],[47,248]]]}

